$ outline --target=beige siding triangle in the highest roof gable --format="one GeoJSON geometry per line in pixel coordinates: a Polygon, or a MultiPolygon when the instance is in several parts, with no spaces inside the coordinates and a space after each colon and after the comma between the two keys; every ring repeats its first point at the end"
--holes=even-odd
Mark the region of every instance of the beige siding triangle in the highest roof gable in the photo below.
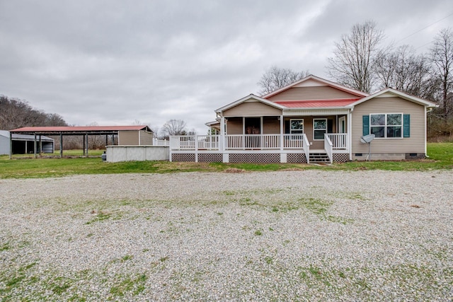
{"type": "Polygon", "coordinates": [[[333,98],[359,98],[331,86],[294,87],[271,96],[268,100],[329,100],[333,98]]]}

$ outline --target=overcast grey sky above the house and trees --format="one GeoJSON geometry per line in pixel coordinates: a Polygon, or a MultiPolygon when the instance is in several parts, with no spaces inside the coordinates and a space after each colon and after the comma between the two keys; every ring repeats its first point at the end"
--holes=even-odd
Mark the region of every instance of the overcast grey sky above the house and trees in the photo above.
{"type": "Polygon", "coordinates": [[[0,94],[69,124],[205,134],[214,110],[257,93],[270,66],[328,79],[334,42],[377,22],[384,44],[429,50],[451,0],[0,0],[0,94]]]}

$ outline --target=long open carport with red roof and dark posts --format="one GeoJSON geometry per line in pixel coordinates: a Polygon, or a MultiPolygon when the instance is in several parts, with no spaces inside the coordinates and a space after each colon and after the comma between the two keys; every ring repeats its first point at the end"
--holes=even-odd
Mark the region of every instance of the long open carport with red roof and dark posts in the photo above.
{"type": "MultiPolygon", "coordinates": [[[[152,144],[153,132],[148,126],[76,126],[76,127],[22,127],[13,129],[11,134],[33,135],[34,146],[37,146],[38,139],[42,136],[59,136],[59,156],[63,157],[63,137],[82,136],[84,137],[84,156],[88,156],[88,136],[105,135],[105,145],[108,144],[108,136],[117,137],[117,144],[144,145],[152,144]]],[[[10,136],[12,137],[12,135],[10,136]]],[[[36,147],[34,154],[36,158],[36,147]]],[[[9,158],[12,158],[13,142],[10,138],[9,158]]]]}

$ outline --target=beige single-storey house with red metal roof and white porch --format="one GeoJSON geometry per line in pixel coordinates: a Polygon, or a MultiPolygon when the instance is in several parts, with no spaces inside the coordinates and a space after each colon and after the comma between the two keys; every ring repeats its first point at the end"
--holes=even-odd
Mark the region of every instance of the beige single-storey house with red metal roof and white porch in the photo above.
{"type": "Polygon", "coordinates": [[[171,161],[316,163],[426,155],[435,103],[386,88],[369,95],[317,76],[215,110],[210,135],[170,139],[171,161]],[[213,134],[215,133],[215,134],[213,134]],[[369,144],[361,138],[374,134],[369,144]]]}

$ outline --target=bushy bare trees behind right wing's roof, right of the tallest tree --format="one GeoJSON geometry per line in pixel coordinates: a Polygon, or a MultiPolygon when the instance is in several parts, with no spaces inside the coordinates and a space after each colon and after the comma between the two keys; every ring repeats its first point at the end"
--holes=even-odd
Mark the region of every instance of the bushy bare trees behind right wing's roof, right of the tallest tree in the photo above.
{"type": "Polygon", "coordinates": [[[430,98],[431,69],[428,58],[403,45],[393,52],[381,50],[374,61],[379,88],[391,87],[420,98],[430,98]]]}

